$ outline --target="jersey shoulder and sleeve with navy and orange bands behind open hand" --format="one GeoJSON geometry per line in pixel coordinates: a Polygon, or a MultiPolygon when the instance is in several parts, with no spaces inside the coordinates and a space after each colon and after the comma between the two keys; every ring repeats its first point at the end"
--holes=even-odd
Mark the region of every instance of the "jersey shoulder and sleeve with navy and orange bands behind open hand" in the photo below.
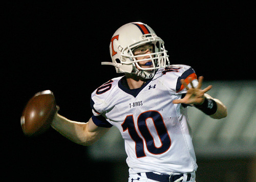
{"type": "Polygon", "coordinates": [[[185,94],[187,92],[185,86],[181,83],[182,79],[184,79],[188,87],[191,87],[190,82],[192,82],[194,86],[198,85],[197,75],[194,69],[188,65],[170,65],[166,67],[162,74],[164,75],[166,86],[175,94],[185,94]]]}

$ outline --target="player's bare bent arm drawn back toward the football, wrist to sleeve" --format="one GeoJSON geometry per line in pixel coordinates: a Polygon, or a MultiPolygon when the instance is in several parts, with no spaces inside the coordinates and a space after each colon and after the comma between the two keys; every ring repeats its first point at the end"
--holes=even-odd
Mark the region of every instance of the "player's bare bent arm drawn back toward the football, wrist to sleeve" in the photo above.
{"type": "Polygon", "coordinates": [[[52,127],[69,140],[85,146],[92,145],[109,130],[96,126],[92,118],[87,123],[82,123],[71,121],[59,114],[54,118],[52,127]]]}

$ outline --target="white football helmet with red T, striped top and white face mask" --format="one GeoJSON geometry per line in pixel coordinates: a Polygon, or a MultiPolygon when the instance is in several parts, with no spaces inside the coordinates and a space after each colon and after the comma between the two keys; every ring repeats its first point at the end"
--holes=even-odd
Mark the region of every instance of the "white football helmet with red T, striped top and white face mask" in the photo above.
{"type": "Polygon", "coordinates": [[[125,24],[114,33],[110,42],[110,55],[112,62],[101,62],[101,64],[114,65],[117,73],[131,73],[144,79],[153,78],[157,69],[170,64],[164,41],[152,28],[141,22],[125,24]],[[133,50],[146,43],[154,45],[153,53],[143,54],[147,58],[137,60],[136,58],[141,55],[135,56],[133,50]],[[146,60],[150,60],[153,66],[143,68],[138,64],[146,60]]]}

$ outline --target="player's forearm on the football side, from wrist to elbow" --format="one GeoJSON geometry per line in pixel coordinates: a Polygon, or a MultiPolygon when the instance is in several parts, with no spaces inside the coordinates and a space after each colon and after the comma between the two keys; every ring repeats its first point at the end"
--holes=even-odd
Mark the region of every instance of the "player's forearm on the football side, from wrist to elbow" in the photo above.
{"type": "Polygon", "coordinates": [[[86,145],[88,141],[86,133],[87,123],[71,121],[61,115],[57,115],[53,122],[52,127],[61,133],[64,137],[77,144],[86,145]]]}

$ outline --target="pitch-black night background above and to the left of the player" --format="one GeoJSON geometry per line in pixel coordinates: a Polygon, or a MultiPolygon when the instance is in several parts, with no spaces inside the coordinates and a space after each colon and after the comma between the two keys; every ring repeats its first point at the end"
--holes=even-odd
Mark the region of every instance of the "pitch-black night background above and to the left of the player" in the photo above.
{"type": "Polygon", "coordinates": [[[99,179],[102,170],[87,148],[53,129],[26,138],[19,119],[35,93],[50,89],[61,115],[88,121],[90,94],[119,76],[100,63],[111,61],[110,39],[127,22],[149,25],[172,64],[191,65],[207,81],[256,78],[253,6],[242,1],[10,1],[3,8],[1,143],[8,178],[99,179]]]}

